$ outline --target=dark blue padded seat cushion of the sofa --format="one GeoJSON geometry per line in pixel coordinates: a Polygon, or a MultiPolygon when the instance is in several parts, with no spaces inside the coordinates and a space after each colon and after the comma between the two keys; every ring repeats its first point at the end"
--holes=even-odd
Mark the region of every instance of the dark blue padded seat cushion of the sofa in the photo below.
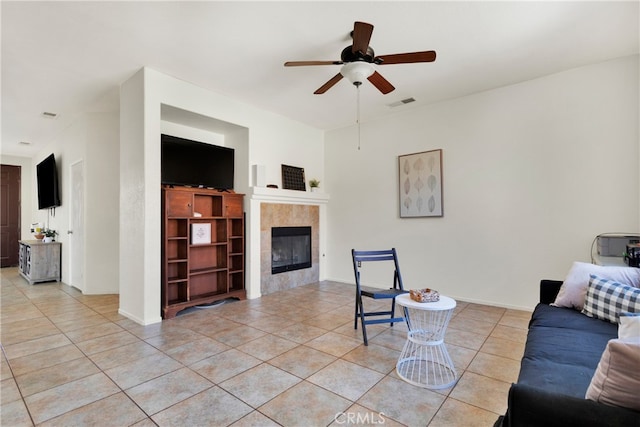
{"type": "Polygon", "coordinates": [[[518,383],[584,399],[617,325],[538,304],[531,316],[518,383]]]}

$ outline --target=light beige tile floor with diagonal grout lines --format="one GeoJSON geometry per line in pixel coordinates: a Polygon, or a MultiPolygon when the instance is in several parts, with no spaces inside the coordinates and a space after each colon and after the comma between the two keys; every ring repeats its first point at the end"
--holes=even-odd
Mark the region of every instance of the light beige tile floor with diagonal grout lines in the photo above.
{"type": "MultiPolygon", "coordinates": [[[[1,275],[2,426],[491,426],[529,312],[458,302],[445,390],[395,373],[406,327],[353,329],[353,285],[321,282],[141,326],[117,295],[1,275]]],[[[376,304],[374,301],[366,301],[376,304]]]]}

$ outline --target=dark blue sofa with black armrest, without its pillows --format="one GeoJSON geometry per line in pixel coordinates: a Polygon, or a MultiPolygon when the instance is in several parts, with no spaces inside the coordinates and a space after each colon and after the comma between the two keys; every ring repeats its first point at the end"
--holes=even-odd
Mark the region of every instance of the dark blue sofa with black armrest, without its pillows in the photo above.
{"type": "Polygon", "coordinates": [[[618,325],[553,307],[562,282],[542,280],[518,382],[495,427],[640,426],[640,413],[585,399],[607,342],[618,325]]]}

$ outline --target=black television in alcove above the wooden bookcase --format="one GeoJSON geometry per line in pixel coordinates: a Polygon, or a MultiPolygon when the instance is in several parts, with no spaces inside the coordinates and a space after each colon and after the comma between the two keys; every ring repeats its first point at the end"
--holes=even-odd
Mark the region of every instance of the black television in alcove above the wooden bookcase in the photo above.
{"type": "Polygon", "coordinates": [[[231,190],[234,156],[233,148],[162,134],[162,184],[231,190]]]}

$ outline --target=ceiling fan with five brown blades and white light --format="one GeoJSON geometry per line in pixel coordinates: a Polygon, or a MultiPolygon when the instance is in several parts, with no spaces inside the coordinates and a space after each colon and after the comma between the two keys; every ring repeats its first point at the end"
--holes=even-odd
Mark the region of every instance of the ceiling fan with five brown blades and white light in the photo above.
{"type": "Polygon", "coordinates": [[[367,79],[378,88],[380,92],[386,95],[393,91],[395,87],[376,71],[373,64],[411,64],[416,62],[433,62],[436,59],[436,52],[433,50],[375,56],[373,49],[369,46],[372,33],[373,25],[356,21],[353,25],[353,31],[351,32],[353,44],[342,50],[339,61],[288,61],[284,63],[284,66],[342,65],[338,74],[313,92],[316,95],[325,93],[342,80],[343,77],[349,79],[355,86],[360,86],[362,81],[367,79]]]}

